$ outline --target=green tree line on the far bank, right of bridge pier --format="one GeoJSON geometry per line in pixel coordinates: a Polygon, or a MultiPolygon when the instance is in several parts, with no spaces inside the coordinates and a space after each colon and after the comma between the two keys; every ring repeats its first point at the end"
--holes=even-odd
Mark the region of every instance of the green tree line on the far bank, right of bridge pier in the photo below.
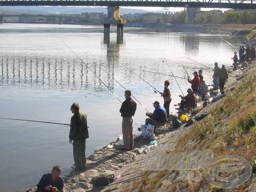
{"type": "MultiPolygon", "coordinates": [[[[132,15],[131,15],[132,16],[132,15]]],[[[129,23],[162,23],[162,24],[256,24],[256,10],[221,10],[197,11],[189,14],[188,11],[176,13],[166,12],[145,13],[134,17],[124,15],[129,23]]]]}

